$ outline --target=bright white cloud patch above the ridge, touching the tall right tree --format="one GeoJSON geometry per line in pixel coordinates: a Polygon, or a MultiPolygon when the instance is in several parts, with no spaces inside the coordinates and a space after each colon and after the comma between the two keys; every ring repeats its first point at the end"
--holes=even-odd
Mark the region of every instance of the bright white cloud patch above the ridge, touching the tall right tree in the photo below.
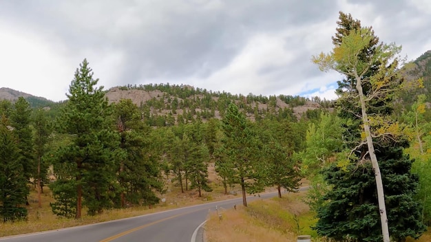
{"type": "Polygon", "coordinates": [[[287,26],[279,32],[255,34],[227,67],[204,80],[193,78],[188,82],[196,87],[256,95],[298,95],[333,83],[338,74],[322,74],[323,78],[305,76],[310,68],[318,73],[311,56],[330,50],[327,43],[335,27],[334,21],[322,21],[307,28],[287,26]],[[280,80],[274,82],[277,78],[280,80]]]}

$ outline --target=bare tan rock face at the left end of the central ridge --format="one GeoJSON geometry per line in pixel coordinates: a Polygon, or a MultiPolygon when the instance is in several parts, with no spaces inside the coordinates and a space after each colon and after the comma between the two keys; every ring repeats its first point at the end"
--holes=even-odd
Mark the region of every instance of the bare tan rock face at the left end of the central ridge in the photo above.
{"type": "Polygon", "coordinates": [[[106,97],[108,98],[109,103],[112,102],[119,102],[121,99],[130,99],[132,102],[138,107],[141,103],[145,103],[148,100],[151,100],[153,98],[160,99],[162,98],[163,93],[162,91],[155,90],[155,91],[144,91],[144,90],[138,90],[138,89],[128,89],[128,90],[122,90],[118,87],[112,87],[107,91],[106,97]]]}

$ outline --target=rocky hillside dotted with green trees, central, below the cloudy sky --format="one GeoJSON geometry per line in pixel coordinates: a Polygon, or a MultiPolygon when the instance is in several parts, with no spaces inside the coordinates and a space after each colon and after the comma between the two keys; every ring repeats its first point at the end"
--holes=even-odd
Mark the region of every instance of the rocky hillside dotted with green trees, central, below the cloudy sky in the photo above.
{"type": "MultiPolygon", "coordinates": [[[[315,110],[321,107],[321,104],[301,98],[299,96],[288,96],[292,102],[286,103],[282,100],[283,97],[270,96],[238,96],[226,93],[213,93],[201,91],[191,86],[169,86],[169,89],[175,91],[161,91],[160,85],[145,85],[140,87],[113,87],[109,89],[106,96],[109,102],[118,102],[121,99],[130,99],[138,107],[149,108],[151,115],[178,115],[191,112],[193,118],[196,114],[204,111],[211,112],[213,109],[213,117],[220,118],[220,103],[224,102],[220,98],[232,99],[240,108],[244,110],[246,115],[251,119],[255,119],[256,113],[280,113],[288,110],[296,118],[300,118],[306,111],[315,110]],[[172,94],[174,92],[174,94],[172,94]],[[185,92],[186,94],[183,94],[185,92]],[[182,96],[182,98],[181,98],[182,96]]],[[[326,106],[329,105],[326,104],[326,106]]],[[[210,117],[211,118],[211,117],[210,117]]]]}

